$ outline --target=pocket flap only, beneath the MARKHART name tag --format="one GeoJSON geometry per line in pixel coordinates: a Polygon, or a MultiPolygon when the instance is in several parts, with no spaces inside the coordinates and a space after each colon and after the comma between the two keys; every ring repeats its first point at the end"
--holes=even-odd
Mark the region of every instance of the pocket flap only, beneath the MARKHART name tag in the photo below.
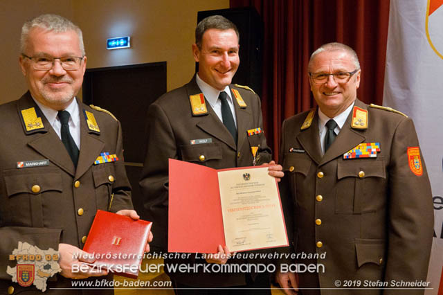
{"type": "Polygon", "coordinates": [[[57,172],[47,172],[42,174],[21,174],[6,175],[5,186],[8,197],[19,193],[44,193],[48,190],[57,190],[62,193],[62,175],[57,172]],[[33,186],[39,186],[39,190],[34,193],[33,186]]]}

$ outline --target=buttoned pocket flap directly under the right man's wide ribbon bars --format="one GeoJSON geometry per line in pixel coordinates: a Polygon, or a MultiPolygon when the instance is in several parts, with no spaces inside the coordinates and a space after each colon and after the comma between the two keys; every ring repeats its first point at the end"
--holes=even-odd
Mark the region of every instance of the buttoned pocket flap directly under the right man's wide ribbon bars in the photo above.
{"type": "Polygon", "coordinates": [[[344,177],[381,177],[386,178],[386,170],[383,159],[352,159],[338,161],[337,163],[337,177],[342,179],[344,177]],[[363,171],[364,176],[359,176],[363,171]]]}

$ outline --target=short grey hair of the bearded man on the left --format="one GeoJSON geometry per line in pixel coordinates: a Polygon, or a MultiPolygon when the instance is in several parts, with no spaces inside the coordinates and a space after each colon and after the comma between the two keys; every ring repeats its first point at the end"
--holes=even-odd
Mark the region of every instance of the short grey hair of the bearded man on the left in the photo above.
{"type": "Polygon", "coordinates": [[[86,53],[84,52],[84,43],[83,43],[83,33],[82,30],[69,19],[65,19],[60,15],[40,15],[39,17],[35,17],[35,19],[31,19],[30,21],[26,21],[26,23],[21,27],[21,37],[20,37],[20,50],[21,53],[24,53],[26,49],[26,45],[28,44],[29,31],[32,28],[44,28],[45,30],[53,30],[55,33],[64,33],[68,30],[74,30],[78,35],[78,39],[80,40],[80,51],[82,51],[82,55],[84,56],[86,53]]]}

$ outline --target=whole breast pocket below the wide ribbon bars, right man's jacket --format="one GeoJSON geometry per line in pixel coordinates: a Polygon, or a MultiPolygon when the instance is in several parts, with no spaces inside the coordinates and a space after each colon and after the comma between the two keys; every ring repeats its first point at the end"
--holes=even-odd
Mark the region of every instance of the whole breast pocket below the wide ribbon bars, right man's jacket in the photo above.
{"type": "Polygon", "coordinates": [[[336,213],[373,213],[386,206],[386,168],[383,157],[341,159],[337,163],[337,178],[336,213]]]}

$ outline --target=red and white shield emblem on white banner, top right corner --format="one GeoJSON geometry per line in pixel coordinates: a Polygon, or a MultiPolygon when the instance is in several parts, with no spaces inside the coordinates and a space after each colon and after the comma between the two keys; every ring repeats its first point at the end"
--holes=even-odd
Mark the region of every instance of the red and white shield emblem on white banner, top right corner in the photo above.
{"type": "Polygon", "coordinates": [[[443,59],[443,0],[428,0],[426,37],[433,51],[443,59]]]}

